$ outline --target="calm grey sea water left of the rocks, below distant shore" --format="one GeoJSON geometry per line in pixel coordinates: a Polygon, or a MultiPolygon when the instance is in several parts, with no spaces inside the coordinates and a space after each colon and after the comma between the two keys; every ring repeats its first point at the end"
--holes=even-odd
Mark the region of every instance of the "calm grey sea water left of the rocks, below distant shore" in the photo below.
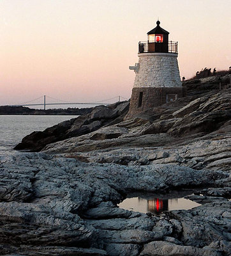
{"type": "Polygon", "coordinates": [[[0,154],[15,154],[18,151],[13,150],[13,147],[27,134],[43,131],[75,117],[77,116],[0,115],[0,154]]]}

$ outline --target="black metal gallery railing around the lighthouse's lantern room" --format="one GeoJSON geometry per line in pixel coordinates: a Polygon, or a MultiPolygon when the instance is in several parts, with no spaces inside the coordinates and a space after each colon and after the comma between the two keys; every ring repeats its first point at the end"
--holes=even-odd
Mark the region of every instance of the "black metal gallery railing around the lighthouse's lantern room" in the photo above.
{"type": "Polygon", "coordinates": [[[177,53],[178,42],[168,41],[168,43],[159,42],[138,42],[138,53],[144,52],[172,52],[177,53]]]}

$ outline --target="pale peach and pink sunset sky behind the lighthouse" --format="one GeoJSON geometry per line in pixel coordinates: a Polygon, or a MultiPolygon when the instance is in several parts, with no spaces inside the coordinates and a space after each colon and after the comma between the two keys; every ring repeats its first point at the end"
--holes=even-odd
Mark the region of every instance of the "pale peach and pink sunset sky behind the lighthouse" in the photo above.
{"type": "Polygon", "coordinates": [[[179,42],[181,77],[231,66],[231,0],[0,0],[0,105],[130,98],[138,41],[179,42]]]}

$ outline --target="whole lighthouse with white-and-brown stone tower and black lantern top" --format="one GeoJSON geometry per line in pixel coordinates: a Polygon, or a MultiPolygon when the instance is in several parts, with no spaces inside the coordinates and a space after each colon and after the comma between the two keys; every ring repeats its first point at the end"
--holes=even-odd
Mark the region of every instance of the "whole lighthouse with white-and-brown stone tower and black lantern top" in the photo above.
{"type": "Polygon", "coordinates": [[[138,63],[129,67],[136,76],[128,116],[183,97],[177,42],[168,41],[168,31],[156,24],[147,42],[138,43],[138,63]]]}

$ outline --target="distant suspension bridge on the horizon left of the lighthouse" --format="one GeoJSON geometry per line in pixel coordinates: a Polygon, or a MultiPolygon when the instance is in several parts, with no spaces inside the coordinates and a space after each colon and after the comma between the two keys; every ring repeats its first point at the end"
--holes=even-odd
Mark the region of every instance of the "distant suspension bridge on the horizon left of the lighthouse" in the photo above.
{"type": "Polygon", "coordinates": [[[8,105],[8,106],[11,106],[11,107],[43,106],[43,109],[45,110],[46,106],[52,106],[52,105],[56,105],[56,106],[57,105],[94,105],[94,106],[97,106],[97,105],[113,104],[113,103],[118,102],[118,101],[120,102],[121,100],[128,100],[128,99],[126,99],[126,98],[124,98],[122,96],[115,96],[115,97],[110,98],[110,99],[100,100],[100,101],[95,101],[95,102],[68,102],[68,101],[65,101],[65,100],[55,99],[53,97],[50,97],[50,96],[47,96],[47,95],[43,95],[41,97],[38,97],[38,98],[33,99],[33,100],[29,100],[27,102],[23,102],[23,103],[20,103],[20,104],[15,104],[15,105],[8,105]],[[57,102],[48,103],[47,99],[56,100],[57,102]],[[40,103],[33,103],[36,100],[43,100],[43,101],[40,102],[40,103]],[[114,101],[113,102],[108,102],[109,100],[110,101],[114,100],[114,101]]]}

